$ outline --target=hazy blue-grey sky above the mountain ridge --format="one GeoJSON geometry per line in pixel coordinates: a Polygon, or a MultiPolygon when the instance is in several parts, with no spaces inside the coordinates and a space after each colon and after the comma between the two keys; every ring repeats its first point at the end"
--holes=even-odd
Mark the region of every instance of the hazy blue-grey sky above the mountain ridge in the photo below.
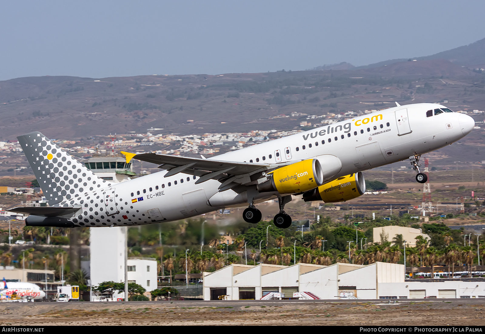
{"type": "Polygon", "coordinates": [[[0,80],[302,70],[485,37],[485,1],[0,0],[0,80]]]}

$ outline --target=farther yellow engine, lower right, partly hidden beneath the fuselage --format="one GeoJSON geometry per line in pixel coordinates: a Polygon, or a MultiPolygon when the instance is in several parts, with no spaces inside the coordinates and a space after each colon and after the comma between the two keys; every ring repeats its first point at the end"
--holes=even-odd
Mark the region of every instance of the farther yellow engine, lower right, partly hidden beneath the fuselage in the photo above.
{"type": "Polygon", "coordinates": [[[303,194],[306,202],[323,200],[325,203],[352,200],[365,193],[365,180],[361,172],[339,177],[303,194]]]}

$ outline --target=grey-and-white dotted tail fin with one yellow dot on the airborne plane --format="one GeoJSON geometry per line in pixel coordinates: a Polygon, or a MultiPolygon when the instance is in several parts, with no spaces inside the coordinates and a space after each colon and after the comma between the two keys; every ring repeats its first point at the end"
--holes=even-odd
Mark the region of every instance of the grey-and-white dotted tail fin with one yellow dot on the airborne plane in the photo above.
{"type": "Polygon", "coordinates": [[[78,204],[81,194],[111,185],[40,132],[17,138],[50,206],[78,204]]]}

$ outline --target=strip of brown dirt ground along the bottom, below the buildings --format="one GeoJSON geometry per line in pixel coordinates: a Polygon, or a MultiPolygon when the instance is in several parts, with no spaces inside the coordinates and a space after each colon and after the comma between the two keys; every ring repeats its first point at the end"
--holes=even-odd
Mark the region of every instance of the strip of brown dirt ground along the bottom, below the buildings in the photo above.
{"type": "Polygon", "coordinates": [[[484,326],[484,300],[1,303],[0,325],[484,326]]]}

